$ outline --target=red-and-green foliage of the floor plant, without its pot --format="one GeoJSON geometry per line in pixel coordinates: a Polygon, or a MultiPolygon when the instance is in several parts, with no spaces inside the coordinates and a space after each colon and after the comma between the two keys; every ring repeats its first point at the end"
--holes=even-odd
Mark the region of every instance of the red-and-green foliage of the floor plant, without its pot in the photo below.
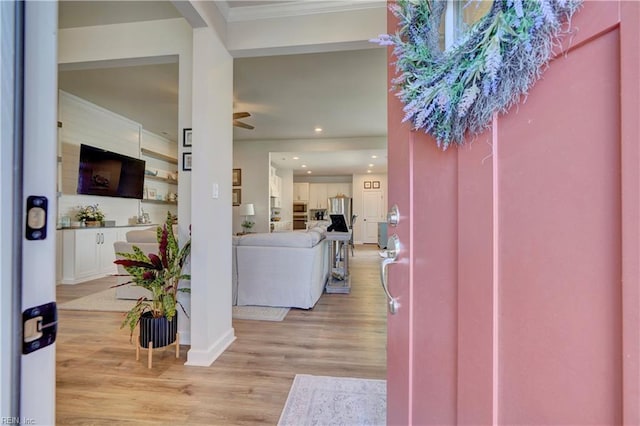
{"type": "MultiPolygon", "coordinates": [[[[116,253],[123,259],[114,263],[122,265],[131,277],[130,281],[116,287],[133,284],[151,292],[151,298],[141,297],[125,316],[121,327],[129,325],[131,333],[145,312],[151,312],[154,318],[166,317],[171,320],[176,314],[178,292],[190,293],[190,288],[180,288],[181,280],[190,280],[190,274],[184,274],[182,268],[191,254],[191,238],[182,246],[173,235],[173,217],[167,214],[164,225],[158,226],[158,254],[146,255],[139,247],[133,246],[133,253],[116,253]]],[[[184,311],[184,307],[182,307],[184,311]]],[[[186,313],[186,312],[185,312],[186,313]]]]}

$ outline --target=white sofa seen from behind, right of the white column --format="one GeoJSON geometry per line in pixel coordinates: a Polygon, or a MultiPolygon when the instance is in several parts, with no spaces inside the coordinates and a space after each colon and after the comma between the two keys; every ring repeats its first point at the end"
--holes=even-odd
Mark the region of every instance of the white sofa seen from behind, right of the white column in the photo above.
{"type": "Polygon", "coordinates": [[[248,234],[233,243],[234,304],[313,308],[329,271],[322,230],[248,234]]]}

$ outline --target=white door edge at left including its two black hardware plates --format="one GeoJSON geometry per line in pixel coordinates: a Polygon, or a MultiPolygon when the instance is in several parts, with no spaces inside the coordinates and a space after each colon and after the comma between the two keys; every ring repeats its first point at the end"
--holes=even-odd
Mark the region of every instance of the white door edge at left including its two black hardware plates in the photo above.
{"type": "MultiPolygon", "coordinates": [[[[14,288],[21,290],[21,302],[17,306],[23,315],[35,317],[30,322],[33,329],[29,332],[28,327],[24,327],[20,342],[13,346],[19,357],[16,359],[20,359],[20,400],[15,414],[21,424],[55,424],[56,346],[55,335],[49,332],[57,327],[53,303],[56,297],[58,4],[16,2],[15,6],[18,10],[24,7],[24,18],[17,14],[16,24],[18,28],[23,25],[25,35],[23,42],[17,40],[17,45],[23,48],[17,57],[24,55],[24,68],[16,74],[14,86],[17,102],[13,112],[18,117],[22,113],[22,126],[15,129],[17,137],[12,138],[12,145],[16,152],[22,151],[22,161],[18,155],[14,162],[22,173],[17,173],[13,181],[14,200],[19,201],[9,204],[13,207],[14,222],[20,223],[19,231],[13,234],[12,258],[21,260],[14,262],[14,273],[18,277],[14,288]],[[35,201],[30,204],[29,199],[35,201]],[[34,208],[30,208],[32,204],[34,208]],[[47,311],[42,306],[51,309],[47,311]]],[[[3,65],[4,59],[3,55],[3,65]]],[[[3,210],[5,208],[3,203],[3,210]]],[[[20,328],[22,324],[15,324],[13,333],[20,328]]],[[[2,415],[6,413],[3,411],[2,415]]]]}

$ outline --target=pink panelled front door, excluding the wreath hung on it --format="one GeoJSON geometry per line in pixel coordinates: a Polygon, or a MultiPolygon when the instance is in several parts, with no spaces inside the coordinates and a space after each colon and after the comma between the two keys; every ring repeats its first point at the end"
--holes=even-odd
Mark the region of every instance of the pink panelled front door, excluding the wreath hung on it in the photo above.
{"type": "Polygon", "coordinates": [[[640,424],[640,4],[573,26],[462,148],[389,97],[389,424],[640,424]]]}

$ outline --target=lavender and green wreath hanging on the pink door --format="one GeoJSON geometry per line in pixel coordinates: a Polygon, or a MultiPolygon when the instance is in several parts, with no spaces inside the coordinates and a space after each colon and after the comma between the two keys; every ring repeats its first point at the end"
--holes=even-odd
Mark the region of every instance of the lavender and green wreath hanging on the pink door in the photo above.
{"type": "Polygon", "coordinates": [[[494,112],[506,112],[528,93],[582,0],[494,0],[442,52],[438,29],[446,4],[398,0],[389,6],[399,19],[396,34],[371,40],[393,46],[392,86],[404,104],[403,121],[431,134],[443,150],[461,145],[467,132],[483,131],[494,112]]]}

